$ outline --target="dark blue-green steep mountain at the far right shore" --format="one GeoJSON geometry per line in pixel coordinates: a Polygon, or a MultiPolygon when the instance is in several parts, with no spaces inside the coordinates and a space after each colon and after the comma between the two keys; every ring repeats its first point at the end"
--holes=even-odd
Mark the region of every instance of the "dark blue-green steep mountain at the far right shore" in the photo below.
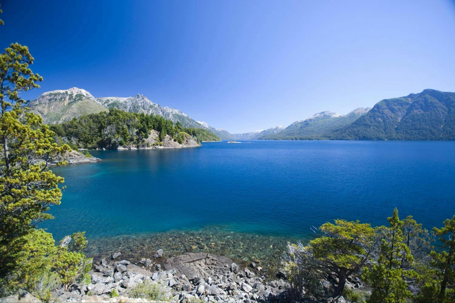
{"type": "Polygon", "coordinates": [[[350,140],[454,140],[455,93],[425,89],[384,99],[352,124],[328,134],[350,140]]]}

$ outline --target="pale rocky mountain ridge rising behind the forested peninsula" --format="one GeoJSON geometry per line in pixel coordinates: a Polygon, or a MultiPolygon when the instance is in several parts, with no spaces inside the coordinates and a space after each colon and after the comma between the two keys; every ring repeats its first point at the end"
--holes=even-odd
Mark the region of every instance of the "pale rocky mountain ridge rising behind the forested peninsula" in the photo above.
{"type": "Polygon", "coordinates": [[[53,90],[30,101],[30,109],[40,114],[47,124],[57,124],[80,117],[84,114],[99,113],[108,109],[121,109],[127,112],[157,114],[183,127],[203,128],[216,134],[222,140],[233,139],[233,135],[223,129],[215,129],[205,122],[198,122],[182,111],[162,107],[143,94],[134,97],[95,98],[85,89],[73,87],[66,90],[53,90]]]}

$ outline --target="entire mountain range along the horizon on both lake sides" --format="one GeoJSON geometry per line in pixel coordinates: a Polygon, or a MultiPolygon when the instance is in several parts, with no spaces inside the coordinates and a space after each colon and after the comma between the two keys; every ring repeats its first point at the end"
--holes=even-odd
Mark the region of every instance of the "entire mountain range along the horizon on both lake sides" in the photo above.
{"type": "Polygon", "coordinates": [[[162,107],[142,94],[134,97],[95,98],[76,87],[54,90],[30,101],[28,106],[56,124],[84,114],[111,108],[161,115],[183,127],[207,129],[222,140],[255,139],[349,139],[349,140],[453,140],[455,139],[455,93],[425,89],[419,94],[384,99],[373,108],[358,108],[348,114],[323,111],[288,127],[276,126],[243,134],[215,129],[182,111],[162,107]]]}

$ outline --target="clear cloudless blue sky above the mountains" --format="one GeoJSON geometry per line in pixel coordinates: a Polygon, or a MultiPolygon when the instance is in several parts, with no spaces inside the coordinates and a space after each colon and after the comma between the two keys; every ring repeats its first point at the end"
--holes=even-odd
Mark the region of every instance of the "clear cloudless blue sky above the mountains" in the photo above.
{"type": "Polygon", "coordinates": [[[1,1],[45,91],[145,94],[232,133],[455,91],[455,3],[1,1]]]}

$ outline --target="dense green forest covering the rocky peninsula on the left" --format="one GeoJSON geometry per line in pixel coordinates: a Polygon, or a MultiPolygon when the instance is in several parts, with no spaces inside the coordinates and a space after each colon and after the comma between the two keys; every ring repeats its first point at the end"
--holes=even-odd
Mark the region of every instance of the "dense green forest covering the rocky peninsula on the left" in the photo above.
{"type": "Polygon", "coordinates": [[[183,128],[180,122],[173,124],[159,115],[137,114],[120,109],[86,114],[62,124],[50,125],[50,129],[55,132],[58,142],[84,149],[151,147],[161,145],[166,135],[180,144],[185,135],[193,136],[197,142],[220,140],[207,129],[183,128]],[[158,132],[157,138],[147,140],[152,130],[158,132]]]}

